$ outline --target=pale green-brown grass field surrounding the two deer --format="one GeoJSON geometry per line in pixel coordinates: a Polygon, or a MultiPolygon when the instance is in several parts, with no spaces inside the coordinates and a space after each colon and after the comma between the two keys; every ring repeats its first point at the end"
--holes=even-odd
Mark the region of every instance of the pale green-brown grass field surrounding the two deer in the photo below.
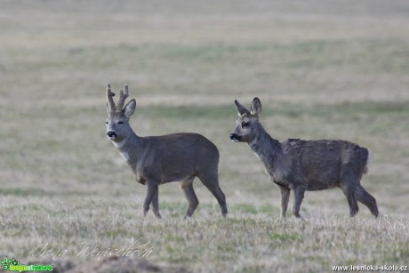
{"type": "Polygon", "coordinates": [[[271,2],[0,0],[0,257],[59,272],[409,265],[409,4],[271,2]],[[146,188],[105,135],[107,83],[129,84],[139,135],[199,132],[218,146],[227,219],[199,181],[191,220],[176,183],[160,188],[164,220],[143,219],[146,188]],[[234,100],[255,96],[278,140],[370,149],[362,184],[381,217],[360,205],[349,219],[332,189],[306,193],[307,221],[281,220],[279,190],[229,141],[234,100]]]}

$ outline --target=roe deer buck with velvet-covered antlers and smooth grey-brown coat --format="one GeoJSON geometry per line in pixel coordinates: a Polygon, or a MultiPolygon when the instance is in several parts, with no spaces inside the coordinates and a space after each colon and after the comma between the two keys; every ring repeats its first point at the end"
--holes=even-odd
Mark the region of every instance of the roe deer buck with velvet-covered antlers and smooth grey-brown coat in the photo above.
{"type": "Polygon", "coordinates": [[[193,180],[198,177],[216,197],[222,215],[226,216],[228,209],[226,197],[219,187],[219,151],[216,146],[204,136],[188,132],[140,137],[129,124],[129,118],[136,108],[135,99],[124,106],[128,86],[121,90],[117,105],[112,98],[114,95],[108,84],[107,136],[131,166],[136,181],[148,187],[143,204],[144,215],[152,203],[153,212],[157,218],[161,218],[158,186],[179,181],[180,189],[188,199],[185,218],[191,217],[199,205],[193,189],[193,180]]]}

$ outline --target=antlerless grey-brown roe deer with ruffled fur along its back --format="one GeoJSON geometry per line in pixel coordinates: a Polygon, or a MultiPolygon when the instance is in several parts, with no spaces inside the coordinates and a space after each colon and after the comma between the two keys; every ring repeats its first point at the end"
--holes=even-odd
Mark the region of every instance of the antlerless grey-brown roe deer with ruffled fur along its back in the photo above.
{"type": "Polygon", "coordinates": [[[261,101],[254,98],[251,110],[235,100],[238,116],[230,139],[247,142],[281,190],[281,217],[285,217],[290,190],[294,192],[293,213],[300,218],[300,206],[306,190],[339,187],[349,204],[349,215],[358,212],[357,201],[378,217],[376,200],[360,180],[367,172],[369,151],[349,141],[276,141],[259,122],[261,101]]]}

